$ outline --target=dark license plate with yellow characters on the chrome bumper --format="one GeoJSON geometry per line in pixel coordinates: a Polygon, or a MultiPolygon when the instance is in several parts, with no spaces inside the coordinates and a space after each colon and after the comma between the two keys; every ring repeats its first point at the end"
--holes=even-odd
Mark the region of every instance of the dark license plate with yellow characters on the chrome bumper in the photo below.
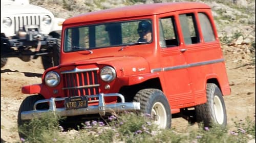
{"type": "Polygon", "coordinates": [[[87,108],[88,96],[69,97],[65,99],[65,107],[69,109],[87,108]]]}

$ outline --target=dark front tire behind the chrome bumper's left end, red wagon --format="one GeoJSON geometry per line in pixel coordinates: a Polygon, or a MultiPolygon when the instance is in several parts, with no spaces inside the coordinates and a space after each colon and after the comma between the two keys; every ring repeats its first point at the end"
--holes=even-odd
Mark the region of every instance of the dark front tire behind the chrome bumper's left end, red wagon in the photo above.
{"type": "MultiPolygon", "coordinates": [[[[21,113],[23,111],[29,111],[29,110],[33,110],[33,106],[34,106],[34,103],[38,100],[41,100],[41,99],[45,99],[43,96],[41,95],[31,95],[31,96],[28,96],[26,97],[22,104],[20,104],[19,106],[19,110],[18,110],[18,119],[17,119],[17,124],[18,124],[18,127],[22,126],[24,123],[28,122],[28,121],[24,121],[21,119],[21,113]]],[[[49,106],[48,104],[46,103],[41,103],[41,104],[38,104],[36,106],[37,109],[48,109],[49,106]]],[[[24,135],[23,133],[21,133],[19,130],[18,130],[18,134],[19,134],[19,137],[20,138],[24,138],[26,135],[24,135]]]]}

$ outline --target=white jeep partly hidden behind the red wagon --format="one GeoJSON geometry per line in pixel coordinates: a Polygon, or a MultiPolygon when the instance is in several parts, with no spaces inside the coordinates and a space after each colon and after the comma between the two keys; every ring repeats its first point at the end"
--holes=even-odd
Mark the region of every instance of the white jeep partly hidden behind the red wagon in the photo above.
{"type": "Polygon", "coordinates": [[[29,0],[1,0],[1,68],[11,57],[41,56],[45,69],[58,65],[63,21],[29,0]]]}

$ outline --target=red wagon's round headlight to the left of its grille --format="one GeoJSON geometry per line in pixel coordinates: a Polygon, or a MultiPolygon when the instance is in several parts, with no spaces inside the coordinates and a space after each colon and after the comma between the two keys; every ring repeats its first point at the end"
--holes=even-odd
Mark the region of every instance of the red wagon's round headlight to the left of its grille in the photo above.
{"type": "Polygon", "coordinates": [[[50,71],[45,76],[45,82],[49,87],[55,87],[59,84],[60,77],[59,74],[53,71],[50,71]]]}

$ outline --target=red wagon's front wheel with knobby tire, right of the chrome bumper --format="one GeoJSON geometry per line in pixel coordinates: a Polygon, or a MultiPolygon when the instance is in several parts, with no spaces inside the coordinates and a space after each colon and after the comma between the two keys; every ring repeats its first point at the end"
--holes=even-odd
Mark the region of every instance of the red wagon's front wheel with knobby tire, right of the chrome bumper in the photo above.
{"type": "Polygon", "coordinates": [[[170,128],[172,114],[168,100],[162,91],[158,89],[140,90],[135,95],[134,102],[140,102],[141,112],[150,114],[159,128],[170,128]]]}

